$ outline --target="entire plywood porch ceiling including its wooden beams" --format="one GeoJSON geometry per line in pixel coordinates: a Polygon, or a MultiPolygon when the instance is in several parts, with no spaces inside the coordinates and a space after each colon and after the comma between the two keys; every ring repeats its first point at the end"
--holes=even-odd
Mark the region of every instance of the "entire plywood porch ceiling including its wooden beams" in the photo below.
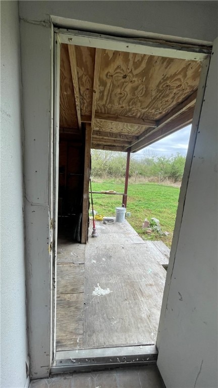
{"type": "Polygon", "coordinates": [[[92,148],[131,151],[191,123],[201,63],[61,45],[60,128],[92,126],[92,148]]]}

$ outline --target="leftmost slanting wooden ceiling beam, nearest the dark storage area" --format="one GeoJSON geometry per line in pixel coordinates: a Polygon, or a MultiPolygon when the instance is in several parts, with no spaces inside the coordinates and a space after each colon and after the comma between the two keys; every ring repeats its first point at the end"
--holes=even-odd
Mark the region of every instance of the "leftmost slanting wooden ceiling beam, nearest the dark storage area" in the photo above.
{"type": "Polygon", "coordinates": [[[68,44],[68,51],[69,51],[69,57],[70,57],[71,74],[73,79],[78,125],[79,125],[79,128],[81,129],[80,94],[79,94],[79,81],[78,81],[78,73],[77,73],[77,59],[76,59],[75,45],[68,44]]]}

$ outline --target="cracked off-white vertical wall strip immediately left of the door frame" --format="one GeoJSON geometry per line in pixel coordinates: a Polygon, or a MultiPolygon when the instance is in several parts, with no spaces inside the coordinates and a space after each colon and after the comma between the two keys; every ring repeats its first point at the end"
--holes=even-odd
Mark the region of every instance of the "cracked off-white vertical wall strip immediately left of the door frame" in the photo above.
{"type": "MultiPolygon", "coordinates": [[[[30,377],[50,365],[50,28],[21,21],[27,324],[30,377]]],[[[52,271],[51,271],[52,272],[52,271]]]]}

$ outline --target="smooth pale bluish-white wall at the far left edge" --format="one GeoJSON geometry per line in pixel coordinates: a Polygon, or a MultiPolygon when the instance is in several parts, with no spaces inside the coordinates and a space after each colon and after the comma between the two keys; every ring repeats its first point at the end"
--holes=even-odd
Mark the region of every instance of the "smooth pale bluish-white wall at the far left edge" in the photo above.
{"type": "Polygon", "coordinates": [[[18,3],[1,3],[1,386],[26,383],[22,125],[18,3]]]}

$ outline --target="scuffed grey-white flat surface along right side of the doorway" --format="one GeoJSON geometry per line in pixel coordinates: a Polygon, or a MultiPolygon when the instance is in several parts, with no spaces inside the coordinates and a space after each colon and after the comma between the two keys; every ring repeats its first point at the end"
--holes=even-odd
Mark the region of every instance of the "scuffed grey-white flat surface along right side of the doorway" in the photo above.
{"type": "Polygon", "coordinates": [[[157,365],[167,388],[218,386],[217,49],[218,38],[210,61],[166,311],[161,312],[157,365]]]}

